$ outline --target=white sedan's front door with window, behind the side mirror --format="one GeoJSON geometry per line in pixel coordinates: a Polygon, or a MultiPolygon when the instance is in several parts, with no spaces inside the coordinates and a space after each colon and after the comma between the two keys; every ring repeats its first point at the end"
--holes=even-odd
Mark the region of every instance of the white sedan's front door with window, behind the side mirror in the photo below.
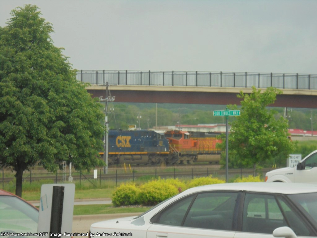
{"type": "Polygon", "coordinates": [[[292,228],[298,237],[313,234],[300,213],[281,195],[246,193],[240,221],[234,238],[272,238],[273,231],[283,226],[292,228]]]}

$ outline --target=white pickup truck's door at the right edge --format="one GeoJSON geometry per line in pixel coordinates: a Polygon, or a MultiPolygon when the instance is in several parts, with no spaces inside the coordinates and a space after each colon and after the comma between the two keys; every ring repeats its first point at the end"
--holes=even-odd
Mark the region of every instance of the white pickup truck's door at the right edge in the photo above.
{"type": "Polygon", "coordinates": [[[294,170],[294,182],[317,183],[317,153],[310,155],[302,163],[303,169],[294,170]]]}

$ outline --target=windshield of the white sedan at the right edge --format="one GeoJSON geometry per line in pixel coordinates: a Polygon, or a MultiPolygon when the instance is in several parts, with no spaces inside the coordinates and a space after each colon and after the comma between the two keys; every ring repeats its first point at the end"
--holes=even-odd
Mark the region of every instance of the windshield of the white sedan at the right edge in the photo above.
{"type": "Polygon", "coordinates": [[[317,223],[317,193],[292,194],[288,197],[306,213],[309,219],[317,223]]]}

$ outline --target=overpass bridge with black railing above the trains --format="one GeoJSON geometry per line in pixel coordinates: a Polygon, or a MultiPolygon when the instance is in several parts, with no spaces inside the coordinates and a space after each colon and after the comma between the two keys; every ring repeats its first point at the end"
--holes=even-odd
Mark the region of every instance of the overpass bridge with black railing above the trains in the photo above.
{"type": "Polygon", "coordinates": [[[239,105],[240,91],[273,86],[283,91],[274,106],[317,108],[317,75],[312,74],[81,70],[76,78],[90,83],[86,89],[93,97],[104,98],[108,83],[115,102],[239,105]]]}

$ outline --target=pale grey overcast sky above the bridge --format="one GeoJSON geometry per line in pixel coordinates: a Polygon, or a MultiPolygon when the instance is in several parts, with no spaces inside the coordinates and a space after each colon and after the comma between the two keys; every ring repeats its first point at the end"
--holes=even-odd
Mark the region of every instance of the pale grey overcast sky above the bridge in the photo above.
{"type": "Polygon", "coordinates": [[[0,0],[52,23],[78,70],[317,74],[316,0],[0,0]]]}

